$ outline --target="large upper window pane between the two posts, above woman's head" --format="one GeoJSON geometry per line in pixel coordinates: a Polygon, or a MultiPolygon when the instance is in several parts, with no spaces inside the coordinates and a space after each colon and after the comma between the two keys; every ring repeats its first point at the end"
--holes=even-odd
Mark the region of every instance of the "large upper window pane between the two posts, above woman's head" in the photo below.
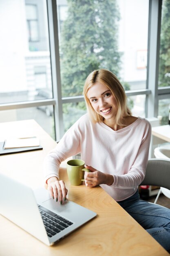
{"type": "Polygon", "coordinates": [[[115,73],[126,90],[146,88],[149,0],[65,3],[58,0],[62,95],[82,95],[98,68],[115,73]]]}

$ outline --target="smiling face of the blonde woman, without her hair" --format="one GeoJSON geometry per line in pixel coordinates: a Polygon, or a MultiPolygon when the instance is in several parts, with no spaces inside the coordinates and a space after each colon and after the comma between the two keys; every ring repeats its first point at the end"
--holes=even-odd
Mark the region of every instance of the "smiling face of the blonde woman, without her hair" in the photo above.
{"type": "Polygon", "coordinates": [[[107,121],[115,120],[117,102],[110,89],[103,83],[95,83],[88,89],[87,97],[91,106],[99,115],[107,121]]]}

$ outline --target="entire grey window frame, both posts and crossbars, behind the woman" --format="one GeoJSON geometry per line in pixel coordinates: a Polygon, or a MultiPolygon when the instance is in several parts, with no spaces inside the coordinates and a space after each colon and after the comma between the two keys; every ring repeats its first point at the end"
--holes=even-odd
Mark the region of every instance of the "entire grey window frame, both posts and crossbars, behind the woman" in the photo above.
{"type": "MultiPolygon", "coordinates": [[[[62,97],[57,3],[56,0],[47,0],[46,3],[49,21],[49,41],[51,52],[53,99],[0,104],[0,110],[11,110],[17,108],[53,105],[55,118],[55,135],[56,140],[58,141],[64,135],[62,104],[84,101],[84,97],[83,95],[76,97],[62,97]]],[[[135,96],[140,94],[146,95],[146,118],[157,117],[159,99],[170,98],[170,87],[158,88],[161,8],[162,0],[149,1],[148,66],[146,89],[126,91],[127,96],[135,96]]]]}

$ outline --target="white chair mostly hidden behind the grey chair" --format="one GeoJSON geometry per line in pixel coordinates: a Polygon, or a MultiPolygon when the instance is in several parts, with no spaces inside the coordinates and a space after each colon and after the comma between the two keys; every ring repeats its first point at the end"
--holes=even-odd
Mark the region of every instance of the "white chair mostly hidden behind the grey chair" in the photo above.
{"type": "MultiPolygon", "coordinates": [[[[170,160],[170,148],[167,148],[167,147],[165,147],[165,148],[163,148],[163,147],[155,148],[154,155],[155,155],[156,158],[159,158],[159,159],[161,158],[161,159],[169,159],[170,160]]],[[[167,179],[168,179],[168,177],[167,177],[167,179]]],[[[169,180],[169,182],[170,182],[170,180],[169,180]]],[[[159,189],[159,192],[157,194],[157,197],[155,199],[155,202],[154,202],[155,204],[156,204],[161,192],[167,198],[170,198],[170,190],[161,186],[161,188],[159,189]]]]}

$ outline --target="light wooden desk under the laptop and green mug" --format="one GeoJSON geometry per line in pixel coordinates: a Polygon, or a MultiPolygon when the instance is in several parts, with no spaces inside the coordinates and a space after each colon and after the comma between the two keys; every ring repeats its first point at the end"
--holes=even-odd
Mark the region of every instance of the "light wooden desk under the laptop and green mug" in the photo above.
{"type": "MultiPolygon", "coordinates": [[[[3,155],[0,172],[31,186],[44,186],[42,164],[45,155],[56,143],[34,121],[18,121],[0,124],[0,135],[33,131],[40,138],[43,150],[3,155]]],[[[159,245],[113,198],[102,188],[71,186],[65,163],[60,177],[68,188],[68,198],[97,213],[97,217],[56,245],[48,247],[0,216],[0,256],[168,256],[159,245]]],[[[5,193],[5,191],[4,191],[5,193]]],[[[10,203],[10,202],[7,202],[10,203]]]]}

